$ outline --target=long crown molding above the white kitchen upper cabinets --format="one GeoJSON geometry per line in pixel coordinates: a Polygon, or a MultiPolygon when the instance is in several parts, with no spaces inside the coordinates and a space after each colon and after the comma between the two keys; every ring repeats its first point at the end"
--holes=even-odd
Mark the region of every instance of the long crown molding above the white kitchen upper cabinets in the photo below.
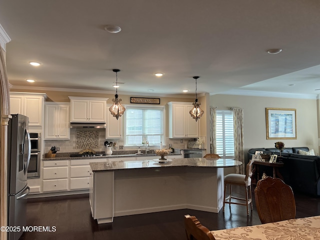
{"type": "MultiPolygon", "coordinates": [[[[86,93],[101,93],[101,94],[114,94],[115,91],[106,90],[92,90],[92,89],[76,89],[76,88],[59,88],[59,87],[40,87],[40,86],[13,86],[9,84],[9,88],[23,89],[23,90],[38,90],[38,91],[68,91],[68,92],[86,92],[86,93]]],[[[135,95],[135,96],[160,96],[160,97],[176,97],[176,98],[194,98],[193,95],[173,95],[173,94],[155,94],[155,93],[141,93],[141,92],[125,92],[121,91],[119,95],[135,95]]],[[[198,94],[204,96],[204,93],[198,94]]]]}

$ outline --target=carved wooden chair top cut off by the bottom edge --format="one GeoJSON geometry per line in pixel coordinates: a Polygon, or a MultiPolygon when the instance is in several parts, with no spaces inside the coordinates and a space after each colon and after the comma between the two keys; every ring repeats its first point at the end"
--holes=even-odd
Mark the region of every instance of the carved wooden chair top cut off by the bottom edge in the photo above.
{"type": "Polygon", "coordinates": [[[208,228],[202,226],[195,216],[184,216],[184,227],[187,240],[215,240],[208,228]]]}

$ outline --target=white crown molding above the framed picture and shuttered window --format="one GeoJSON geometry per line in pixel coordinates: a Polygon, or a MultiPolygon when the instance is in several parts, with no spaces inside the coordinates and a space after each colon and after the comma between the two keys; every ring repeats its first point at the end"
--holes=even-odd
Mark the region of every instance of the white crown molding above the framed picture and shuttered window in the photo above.
{"type": "Polygon", "coordinates": [[[243,95],[243,96],[266,96],[266,97],[282,97],[282,98],[299,98],[299,99],[318,99],[318,94],[299,94],[286,92],[271,92],[271,91],[251,91],[232,89],[216,94],[226,95],[243,95]]]}

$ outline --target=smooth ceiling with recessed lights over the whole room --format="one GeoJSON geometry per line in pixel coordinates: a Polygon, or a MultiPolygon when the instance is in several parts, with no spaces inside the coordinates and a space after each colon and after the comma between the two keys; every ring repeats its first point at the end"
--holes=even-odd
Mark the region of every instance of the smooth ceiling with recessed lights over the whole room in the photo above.
{"type": "Polygon", "coordinates": [[[118,93],[141,95],[194,95],[198,75],[198,93],[316,96],[319,12],[319,0],[0,0],[11,85],[114,91],[118,68],[118,93]]]}

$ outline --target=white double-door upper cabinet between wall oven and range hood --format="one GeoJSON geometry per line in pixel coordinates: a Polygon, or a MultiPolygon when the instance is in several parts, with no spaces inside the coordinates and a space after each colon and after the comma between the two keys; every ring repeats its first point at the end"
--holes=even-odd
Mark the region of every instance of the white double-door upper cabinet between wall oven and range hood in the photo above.
{"type": "Polygon", "coordinates": [[[70,139],[70,104],[44,103],[44,139],[70,139]]]}

